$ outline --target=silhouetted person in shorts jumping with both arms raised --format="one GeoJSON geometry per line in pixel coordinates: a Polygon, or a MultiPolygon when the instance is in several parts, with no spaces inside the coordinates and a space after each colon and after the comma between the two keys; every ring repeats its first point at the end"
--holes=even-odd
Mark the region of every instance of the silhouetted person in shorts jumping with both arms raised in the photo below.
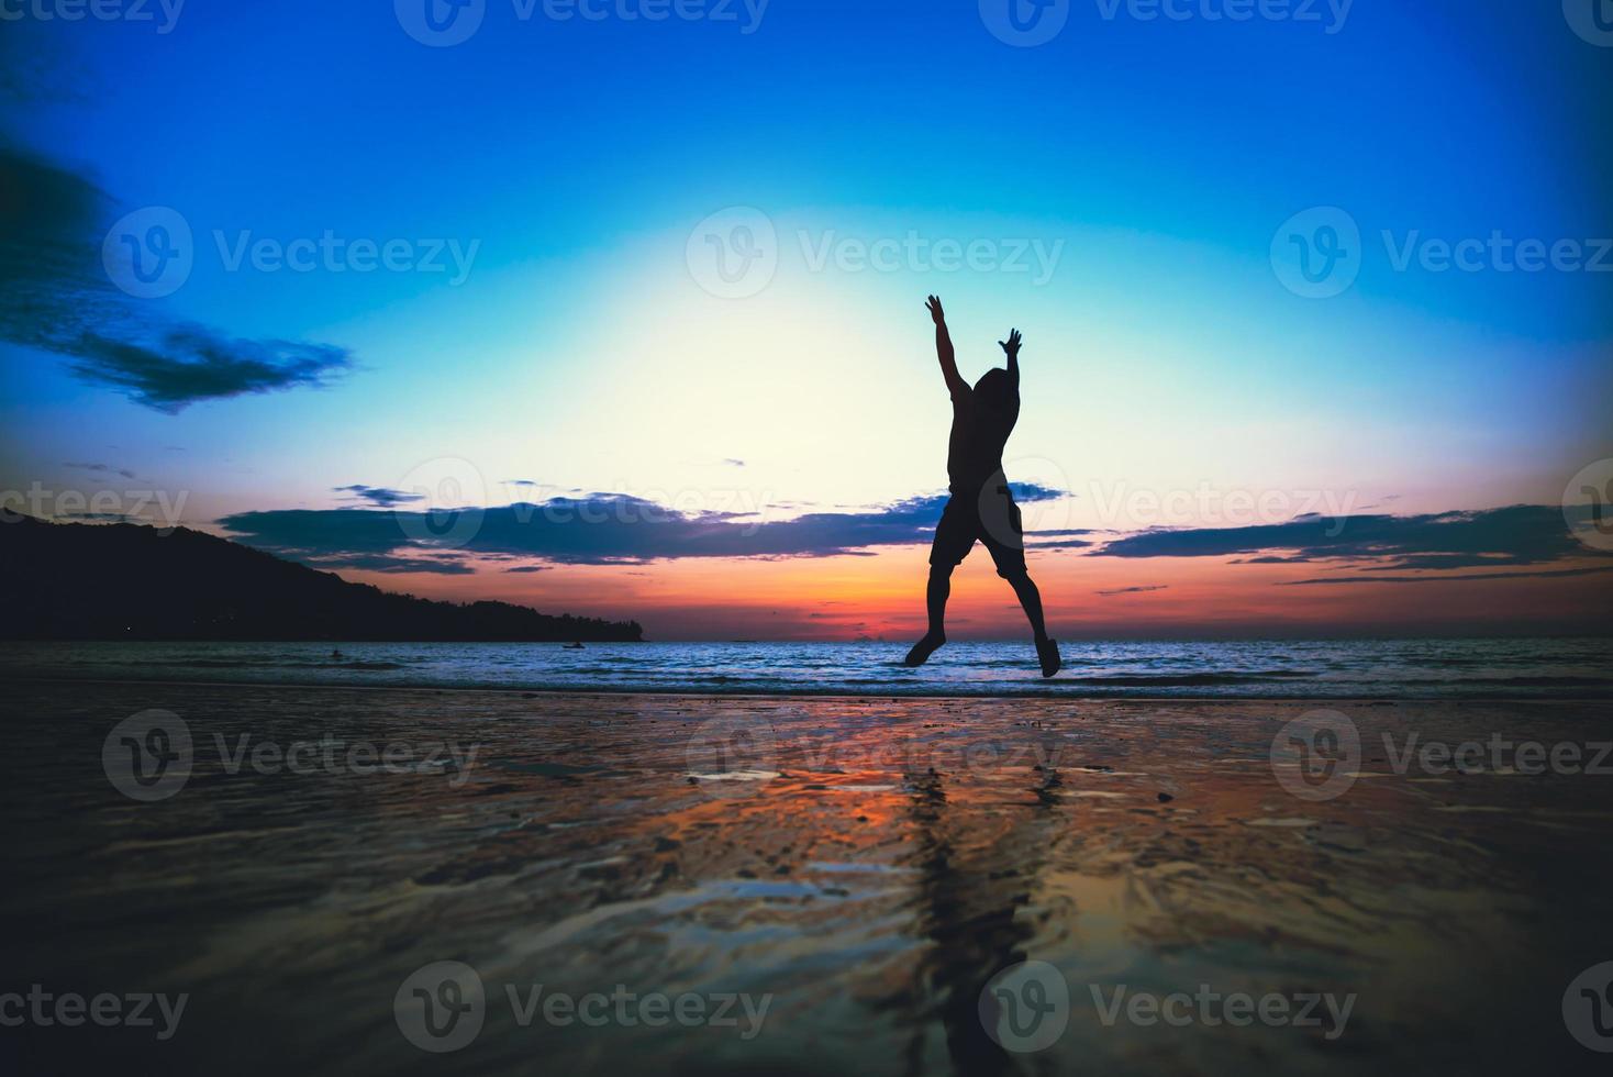
{"type": "Polygon", "coordinates": [[[908,666],[923,666],[936,648],[947,642],[947,597],[952,593],[952,571],[969,556],[974,540],[986,543],[997,564],[997,574],[1013,585],[1036,634],[1036,655],[1042,676],[1052,677],[1061,663],[1058,642],[1047,637],[1042,624],[1042,595],[1024,568],[1024,526],[1019,506],[1013,503],[1003,476],[1003,445],[1019,419],[1019,331],[998,340],[1008,355],[1008,369],[989,369],[974,389],[958,374],[958,360],[947,332],[947,314],[934,295],[924,303],[936,322],[936,355],[952,393],[952,437],[947,442],[947,479],[952,497],[936,524],[936,542],[929,548],[929,632],[908,651],[908,666]]]}

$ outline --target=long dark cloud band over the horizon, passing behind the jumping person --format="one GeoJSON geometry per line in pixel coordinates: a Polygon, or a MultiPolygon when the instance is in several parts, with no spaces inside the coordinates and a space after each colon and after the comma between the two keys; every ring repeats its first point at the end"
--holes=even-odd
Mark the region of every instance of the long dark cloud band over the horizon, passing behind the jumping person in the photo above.
{"type": "MultiPolygon", "coordinates": [[[[1058,490],[1036,485],[1018,493],[1029,501],[1060,497],[1058,490]]],[[[486,509],[269,509],[235,513],[219,524],[250,547],[294,559],[455,550],[550,564],[636,564],[679,558],[824,558],[927,543],[945,501],[942,493],[861,511],[760,521],[740,513],[681,513],[632,495],[594,493],[486,509]]]]}

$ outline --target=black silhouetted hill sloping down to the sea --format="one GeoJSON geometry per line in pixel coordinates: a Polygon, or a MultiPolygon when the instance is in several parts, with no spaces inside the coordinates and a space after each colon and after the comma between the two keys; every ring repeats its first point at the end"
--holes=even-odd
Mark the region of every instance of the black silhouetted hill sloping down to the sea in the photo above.
{"type": "Polygon", "coordinates": [[[187,527],[0,519],[6,640],[639,642],[636,621],[350,584],[187,527]]]}

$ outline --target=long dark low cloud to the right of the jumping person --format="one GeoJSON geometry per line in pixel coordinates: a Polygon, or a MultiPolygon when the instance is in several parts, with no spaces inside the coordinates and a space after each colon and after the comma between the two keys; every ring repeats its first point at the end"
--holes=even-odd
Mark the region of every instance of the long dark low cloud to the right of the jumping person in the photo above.
{"type": "MultiPolygon", "coordinates": [[[[1252,564],[1348,561],[1374,571],[1455,571],[1536,566],[1592,555],[1555,505],[1423,516],[1302,516],[1253,527],[1148,529],[1116,538],[1097,556],[1223,558],[1252,564]]],[[[1342,580],[1319,580],[1342,582],[1342,580]]]]}

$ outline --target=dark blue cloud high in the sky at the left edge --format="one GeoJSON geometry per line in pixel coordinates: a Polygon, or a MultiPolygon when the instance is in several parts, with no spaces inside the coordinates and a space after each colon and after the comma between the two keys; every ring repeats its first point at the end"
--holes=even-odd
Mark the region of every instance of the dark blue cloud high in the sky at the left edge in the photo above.
{"type": "Polygon", "coordinates": [[[113,200],[82,176],[0,147],[0,340],[66,356],[84,382],[174,414],[352,364],[336,345],[235,339],[118,290],[100,264],[113,200]]]}

